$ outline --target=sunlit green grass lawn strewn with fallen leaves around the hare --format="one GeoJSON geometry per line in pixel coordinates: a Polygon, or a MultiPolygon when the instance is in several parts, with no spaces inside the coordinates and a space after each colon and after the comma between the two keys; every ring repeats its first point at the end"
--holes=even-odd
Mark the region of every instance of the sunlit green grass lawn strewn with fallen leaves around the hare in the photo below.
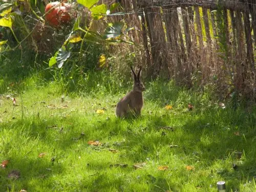
{"type": "Polygon", "coordinates": [[[63,81],[34,75],[1,87],[0,162],[9,164],[0,168],[0,191],[217,191],[221,180],[227,191],[256,190],[254,104],[234,108],[217,100],[210,86],[193,91],[157,80],[145,83],[141,117],[118,119],[115,104],[130,82],[89,72],[74,84],[67,92],[63,81]],[[166,104],[173,109],[164,109],[166,104]],[[99,109],[104,114],[97,114],[99,109]],[[90,140],[102,145],[89,145],[90,140]],[[145,166],[135,169],[137,163],[145,166]],[[163,165],[168,170],[158,170],[163,165]],[[20,178],[8,178],[11,170],[20,178]]]}

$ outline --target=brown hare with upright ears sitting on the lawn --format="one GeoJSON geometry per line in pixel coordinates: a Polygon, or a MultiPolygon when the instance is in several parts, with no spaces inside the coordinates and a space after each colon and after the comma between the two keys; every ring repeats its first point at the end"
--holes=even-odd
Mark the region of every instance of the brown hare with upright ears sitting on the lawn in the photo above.
{"type": "Polygon", "coordinates": [[[125,95],[116,105],[116,116],[127,117],[130,113],[133,115],[140,115],[140,111],[143,106],[142,92],[145,90],[143,83],[140,81],[141,67],[138,74],[134,72],[131,67],[134,76],[133,90],[125,95]]]}

